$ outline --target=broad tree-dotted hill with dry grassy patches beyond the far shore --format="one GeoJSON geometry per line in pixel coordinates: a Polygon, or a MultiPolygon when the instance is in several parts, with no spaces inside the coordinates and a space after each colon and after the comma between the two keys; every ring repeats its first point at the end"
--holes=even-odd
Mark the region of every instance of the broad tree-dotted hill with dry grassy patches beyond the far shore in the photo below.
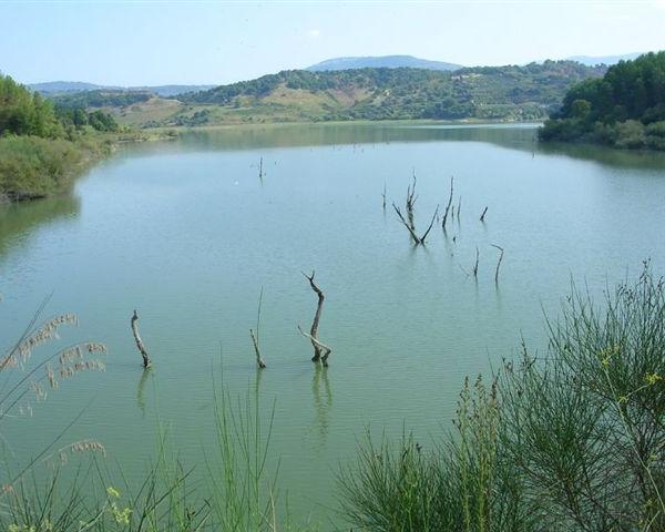
{"type": "MultiPolygon", "coordinates": [[[[604,66],[545,61],[450,71],[410,68],[283,71],[182,94],[160,125],[328,120],[541,120],[604,66]]],[[[156,125],[156,124],[151,124],[156,125]]]]}

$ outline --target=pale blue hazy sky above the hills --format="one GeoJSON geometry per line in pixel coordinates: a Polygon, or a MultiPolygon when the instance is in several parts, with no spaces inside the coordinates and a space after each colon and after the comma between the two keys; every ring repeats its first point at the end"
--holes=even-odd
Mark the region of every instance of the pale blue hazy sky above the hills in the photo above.
{"type": "Polygon", "coordinates": [[[463,65],[665,49],[665,0],[0,0],[20,82],[219,84],[348,55],[463,65]]]}

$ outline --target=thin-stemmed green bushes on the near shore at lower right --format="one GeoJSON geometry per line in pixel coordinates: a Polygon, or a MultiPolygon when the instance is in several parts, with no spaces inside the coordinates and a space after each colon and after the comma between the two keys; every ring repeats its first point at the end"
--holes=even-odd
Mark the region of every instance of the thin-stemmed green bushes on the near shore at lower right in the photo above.
{"type": "Polygon", "coordinates": [[[344,510],[368,531],[665,530],[665,286],[648,265],[603,308],[577,290],[550,349],[460,395],[426,452],[365,444],[344,510]]]}

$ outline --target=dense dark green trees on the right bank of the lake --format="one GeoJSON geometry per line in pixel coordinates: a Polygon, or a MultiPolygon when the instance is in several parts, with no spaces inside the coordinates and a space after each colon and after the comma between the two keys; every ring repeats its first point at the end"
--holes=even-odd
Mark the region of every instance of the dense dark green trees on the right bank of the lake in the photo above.
{"type": "Polygon", "coordinates": [[[573,86],[540,137],[665,150],[665,52],[621,61],[573,86]]]}

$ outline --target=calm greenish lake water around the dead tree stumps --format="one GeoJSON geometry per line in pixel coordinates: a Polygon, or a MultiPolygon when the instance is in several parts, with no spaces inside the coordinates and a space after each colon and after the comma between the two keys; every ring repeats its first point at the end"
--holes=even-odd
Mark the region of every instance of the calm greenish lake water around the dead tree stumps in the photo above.
{"type": "MultiPolygon", "coordinates": [[[[17,459],[85,408],[66,439],[101,440],[129,475],[156,418],[186,462],[213,446],[213,374],[275,400],[273,457],[291,509],[327,520],[334,475],[370,426],[431,444],[451,427],[464,375],[544,348],[571,278],[601,295],[651,258],[665,272],[665,155],[539,146],[533,126],[273,126],[192,132],[126,146],[71,196],[0,207],[2,347],[45,295],[80,326],[55,345],[106,344],[106,371],[61,383],[33,416],[4,421],[17,459]],[[258,177],[263,157],[265,175],[258,177]],[[390,208],[418,178],[422,231],[448,198],[461,215],[415,248],[390,208]],[[388,208],[381,207],[386,184],[388,208]],[[485,223],[479,215],[488,206],[485,223]],[[498,252],[505,249],[499,284],[498,252]],[[475,248],[478,279],[471,272],[475,248]],[[307,328],[326,293],[316,370],[307,328]],[[264,289],[257,374],[249,327],[264,289]],[[132,309],[154,368],[146,377],[132,309]],[[222,362],[219,352],[222,351],[222,362]],[[221,368],[221,366],[223,368],[221,368]]],[[[327,522],[327,521],[326,521],[327,522]]]]}

